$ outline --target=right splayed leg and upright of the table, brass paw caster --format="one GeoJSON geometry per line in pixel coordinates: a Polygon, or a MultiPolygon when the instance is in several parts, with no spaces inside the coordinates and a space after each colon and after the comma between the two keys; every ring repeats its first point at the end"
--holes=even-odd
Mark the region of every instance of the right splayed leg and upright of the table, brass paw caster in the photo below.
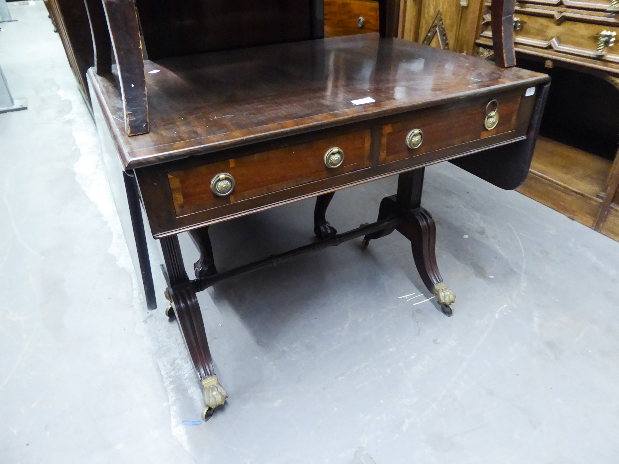
{"type": "MultiPolygon", "coordinates": [[[[410,241],[417,271],[428,290],[436,296],[441,311],[447,316],[453,314],[452,304],[456,295],[443,282],[443,277],[436,264],[436,225],[431,214],[421,207],[424,168],[399,175],[397,195],[383,198],[378,213],[378,220],[393,215],[402,215],[404,224],[397,228],[410,241]]],[[[386,229],[365,236],[364,247],[370,239],[390,234],[386,229]]]]}

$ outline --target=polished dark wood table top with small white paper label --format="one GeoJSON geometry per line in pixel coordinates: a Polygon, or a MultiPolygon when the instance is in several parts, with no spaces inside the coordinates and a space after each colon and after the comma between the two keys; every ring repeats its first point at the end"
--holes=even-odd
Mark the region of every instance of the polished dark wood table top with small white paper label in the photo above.
{"type": "Polygon", "coordinates": [[[145,71],[150,132],[134,137],[115,79],[89,71],[126,169],[548,80],[373,33],[145,61],[145,71]],[[366,97],[375,102],[352,103],[366,97]]]}

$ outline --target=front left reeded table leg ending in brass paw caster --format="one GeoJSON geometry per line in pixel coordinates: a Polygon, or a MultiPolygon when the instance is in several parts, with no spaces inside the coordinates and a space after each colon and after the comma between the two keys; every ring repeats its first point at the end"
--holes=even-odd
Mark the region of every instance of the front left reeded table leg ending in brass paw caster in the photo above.
{"type": "Polygon", "coordinates": [[[210,356],[209,342],[206,338],[206,330],[204,330],[200,305],[184,269],[178,237],[174,235],[162,238],[161,247],[170,279],[168,294],[174,306],[176,320],[178,320],[178,325],[187,344],[189,356],[191,356],[197,376],[202,382],[202,392],[204,393],[202,419],[207,420],[212,416],[215,407],[225,403],[228,393],[220,385],[215,375],[215,367],[210,356]]]}

